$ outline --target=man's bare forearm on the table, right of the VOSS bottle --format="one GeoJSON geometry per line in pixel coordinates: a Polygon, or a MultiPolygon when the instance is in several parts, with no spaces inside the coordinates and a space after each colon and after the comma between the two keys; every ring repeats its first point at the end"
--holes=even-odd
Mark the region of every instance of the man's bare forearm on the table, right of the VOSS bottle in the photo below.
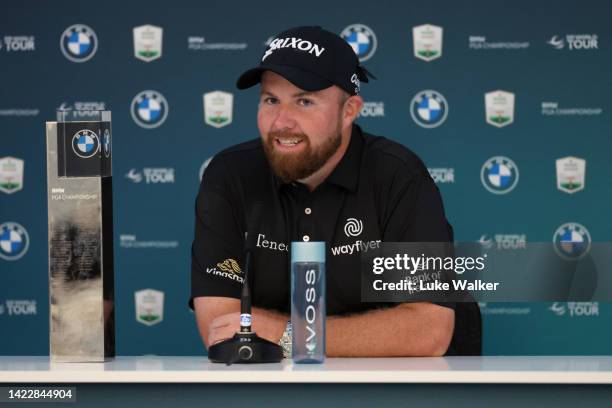
{"type": "Polygon", "coordinates": [[[430,303],[401,304],[351,316],[329,316],[328,357],[439,356],[450,343],[454,311],[430,303]]]}

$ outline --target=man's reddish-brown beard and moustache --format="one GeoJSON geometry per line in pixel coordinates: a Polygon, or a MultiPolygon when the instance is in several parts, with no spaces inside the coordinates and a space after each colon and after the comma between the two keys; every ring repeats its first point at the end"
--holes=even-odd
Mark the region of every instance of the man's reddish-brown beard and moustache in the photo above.
{"type": "Polygon", "coordinates": [[[313,149],[310,138],[304,133],[270,132],[263,141],[263,147],[274,173],[285,183],[289,183],[302,180],[323,167],[338,151],[341,141],[340,128],[317,149],[313,149]],[[304,143],[305,146],[299,153],[279,152],[275,147],[276,138],[299,139],[300,144],[304,143]]]}

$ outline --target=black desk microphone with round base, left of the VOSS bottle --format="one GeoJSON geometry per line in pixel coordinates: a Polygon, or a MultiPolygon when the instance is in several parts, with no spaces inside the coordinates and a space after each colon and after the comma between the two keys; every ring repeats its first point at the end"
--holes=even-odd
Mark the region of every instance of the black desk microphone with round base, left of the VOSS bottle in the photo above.
{"type": "Polygon", "coordinates": [[[248,221],[245,234],[244,281],[240,295],[240,331],[231,339],[224,340],[208,348],[208,359],[213,363],[227,365],[278,363],[283,359],[280,345],[262,339],[252,331],[251,321],[251,258],[255,249],[255,235],[261,221],[263,202],[256,201],[248,221]]]}

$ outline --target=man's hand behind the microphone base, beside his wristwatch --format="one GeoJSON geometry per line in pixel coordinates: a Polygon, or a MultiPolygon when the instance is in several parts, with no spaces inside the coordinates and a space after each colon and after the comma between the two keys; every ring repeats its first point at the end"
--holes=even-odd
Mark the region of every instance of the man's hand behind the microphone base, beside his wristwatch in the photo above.
{"type": "MultiPolygon", "coordinates": [[[[288,317],[280,313],[253,308],[253,331],[259,337],[278,343],[287,326],[288,317]]],[[[208,344],[213,345],[234,336],[240,330],[240,312],[226,313],[213,319],[208,329],[208,344]]]]}

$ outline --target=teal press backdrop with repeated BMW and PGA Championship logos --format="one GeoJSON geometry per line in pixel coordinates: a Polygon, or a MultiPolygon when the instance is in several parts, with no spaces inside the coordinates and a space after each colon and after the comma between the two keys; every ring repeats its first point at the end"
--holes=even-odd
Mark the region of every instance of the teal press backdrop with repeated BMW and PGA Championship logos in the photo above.
{"type": "MultiPolygon", "coordinates": [[[[19,259],[0,258],[0,354],[49,352],[44,123],[59,108],[87,107],[113,115],[118,354],[205,353],[187,308],[200,171],[216,152],[258,137],[258,90],[237,91],[235,81],[258,63],[272,35],[296,25],[361,41],[364,65],[378,80],[363,86],[369,110],[358,123],[422,157],[436,174],[457,240],[552,242],[573,222],[593,243],[606,242],[611,15],[612,4],[593,0],[5,2],[0,159],[23,160],[24,171],[19,186],[0,191],[0,224],[18,223],[28,247],[19,259]],[[69,31],[62,41],[74,24],[95,38],[69,31]],[[441,56],[429,61],[414,52],[413,27],[424,24],[443,33],[441,56]],[[148,49],[144,58],[155,58],[148,62],[135,57],[133,29],[143,25],[163,30],[161,56],[148,49]],[[89,59],[74,62],[71,49],[89,59]],[[158,102],[149,100],[149,110],[134,106],[147,90],[158,102]],[[412,101],[423,90],[445,100],[446,119],[433,128],[411,115],[418,118],[412,101]],[[485,93],[496,90],[515,97],[512,123],[502,127],[485,117],[485,93]],[[204,114],[203,95],[213,91],[233,94],[231,120],[213,114],[217,126],[204,114]],[[505,194],[481,181],[494,156],[519,170],[505,194]],[[584,188],[571,194],[558,188],[555,170],[555,161],[569,156],[586,163],[584,188]],[[144,289],[164,294],[154,324],[136,318],[135,292],[144,289]]],[[[609,303],[480,306],[485,354],[612,353],[609,303]]]]}

